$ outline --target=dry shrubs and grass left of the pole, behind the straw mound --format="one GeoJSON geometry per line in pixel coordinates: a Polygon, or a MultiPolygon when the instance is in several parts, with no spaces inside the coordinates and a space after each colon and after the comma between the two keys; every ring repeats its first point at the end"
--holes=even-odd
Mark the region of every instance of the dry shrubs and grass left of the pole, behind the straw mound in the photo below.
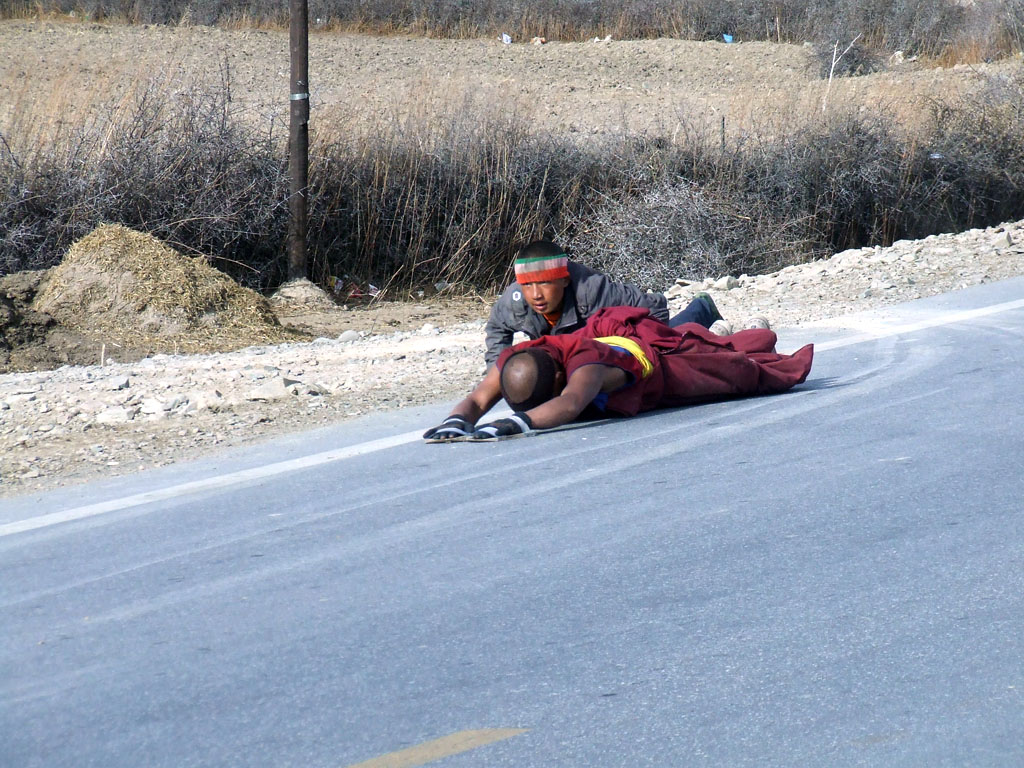
{"type": "Polygon", "coordinates": [[[117,222],[258,285],[287,227],[279,143],[231,112],[226,80],[154,80],[50,133],[0,133],[0,270],[52,266],[117,222]]]}

